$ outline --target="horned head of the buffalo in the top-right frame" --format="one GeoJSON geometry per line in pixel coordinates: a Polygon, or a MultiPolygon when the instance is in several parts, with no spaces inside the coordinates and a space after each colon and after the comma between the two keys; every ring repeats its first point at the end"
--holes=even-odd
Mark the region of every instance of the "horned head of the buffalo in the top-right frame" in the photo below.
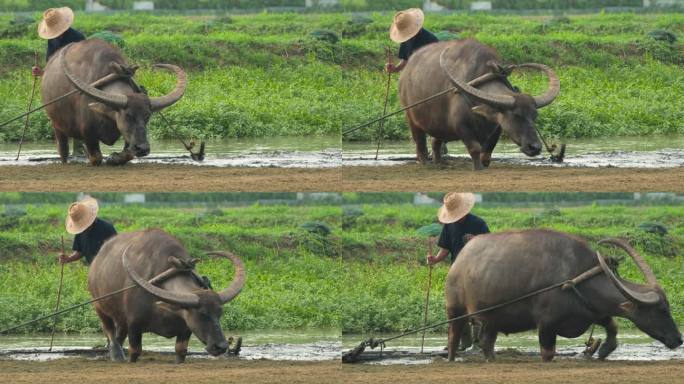
{"type": "Polygon", "coordinates": [[[500,126],[527,156],[539,155],[542,150],[542,143],[535,127],[537,109],[551,104],[558,97],[560,93],[558,75],[543,64],[520,64],[515,68],[538,69],[548,76],[549,86],[546,92],[540,96],[530,96],[524,93],[493,94],[470,86],[466,81],[453,76],[447,66],[447,52],[448,49],[445,49],[440,56],[440,66],[444,73],[464,95],[482,103],[472,107],[471,111],[475,115],[500,126]]]}

